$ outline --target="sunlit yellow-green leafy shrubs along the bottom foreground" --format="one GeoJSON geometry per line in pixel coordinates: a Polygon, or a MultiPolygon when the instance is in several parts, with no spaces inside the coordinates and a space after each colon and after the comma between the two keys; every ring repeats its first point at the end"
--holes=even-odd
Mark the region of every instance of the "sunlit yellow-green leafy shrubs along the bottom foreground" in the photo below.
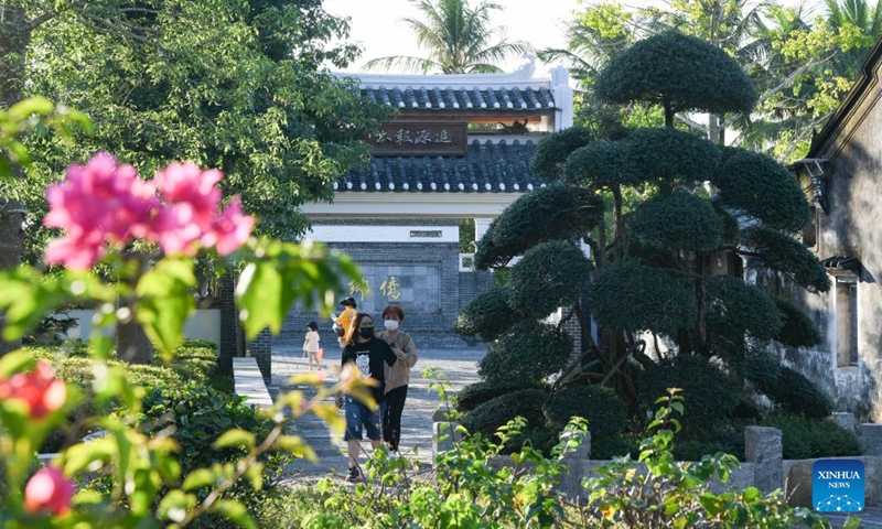
{"type": "MultiPolygon", "coordinates": [[[[533,443],[502,456],[499,445],[472,435],[438,454],[428,479],[417,479],[426,471],[379,452],[367,465],[367,483],[298,487],[266,504],[259,518],[284,527],[826,527],[819,515],[788,506],[781,490],[732,488],[738,461],[731,455],[676,463],[678,397],[663,398],[639,455],[602,465],[584,481],[569,475],[582,455],[585,424],[577,420],[550,457],[533,443]],[[724,492],[712,489],[713,482],[724,492]]],[[[508,443],[527,428],[510,421],[496,435],[508,443]]]]}

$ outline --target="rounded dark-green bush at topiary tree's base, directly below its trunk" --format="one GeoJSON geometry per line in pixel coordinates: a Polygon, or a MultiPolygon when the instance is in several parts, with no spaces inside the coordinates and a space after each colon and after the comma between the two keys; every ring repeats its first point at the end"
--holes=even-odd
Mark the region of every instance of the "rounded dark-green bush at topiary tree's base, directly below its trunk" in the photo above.
{"type": "Polygon", "coordinates": [[[548,399],[544,411],[558,430],[572,417],[587,419],[592,444],[595,439],[621,433],[627,419],[626,404],[615,391],[601,386],[568,386],[548,399]]]}

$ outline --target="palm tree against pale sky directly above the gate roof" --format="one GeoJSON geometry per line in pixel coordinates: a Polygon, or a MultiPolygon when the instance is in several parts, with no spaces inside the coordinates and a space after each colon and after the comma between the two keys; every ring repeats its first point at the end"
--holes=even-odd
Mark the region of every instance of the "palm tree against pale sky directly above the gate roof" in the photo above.
{"type": "Polygon", "coordinates": [[[402,55],[380,57],[365,64],[366,68],[400,68],[422,74],[499,73],[502,68],[496,64],[531,50],[526,42],[508,42],[505,39],[504,28],[491,28],[493,11],[503,9],[498,3],[482,0],[472,8],[469,6],[469,0],[408,1],[416,6],[424,20],[415,18],[401,20],[417,36],[417,45],[429,52],[429,57],[402,55]],[[496,44],[491,44],[495,35],[501,40],[496,44]]]}

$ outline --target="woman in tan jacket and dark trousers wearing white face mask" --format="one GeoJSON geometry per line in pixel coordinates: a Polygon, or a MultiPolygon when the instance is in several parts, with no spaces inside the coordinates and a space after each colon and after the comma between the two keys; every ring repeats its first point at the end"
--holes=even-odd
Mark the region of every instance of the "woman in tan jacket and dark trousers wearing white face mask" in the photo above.
{"type": "Polygon", "coordinates": [[[399,325],[405,320],[405,312],[399,306],[389,305],[383,310],[385,327],[378,337],[386,341],[398,361],[386,376],[386,406],[383,413],[383,440],[389,444],[389,453],[398,456],[398,443],[401,440],[401,413],[405,411],[407,387],[410,384],[410,368],[417,365],[417,346],[413,338],[402,332],[399,325]]]}

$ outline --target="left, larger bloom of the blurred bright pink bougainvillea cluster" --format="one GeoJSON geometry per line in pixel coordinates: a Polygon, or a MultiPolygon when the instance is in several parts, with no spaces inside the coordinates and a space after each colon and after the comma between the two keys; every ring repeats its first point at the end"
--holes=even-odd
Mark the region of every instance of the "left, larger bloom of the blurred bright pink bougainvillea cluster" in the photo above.
{"type": "Polygon", "coordinates": [[[51,186],[46,197],[50,213],[43,224],[67,231],[46,260],[77,270],[95,264],[108,244],[147,236],[160,205],[151,182],[106,152],[86,165],[72,163],[67,180],[51,186]]]}

